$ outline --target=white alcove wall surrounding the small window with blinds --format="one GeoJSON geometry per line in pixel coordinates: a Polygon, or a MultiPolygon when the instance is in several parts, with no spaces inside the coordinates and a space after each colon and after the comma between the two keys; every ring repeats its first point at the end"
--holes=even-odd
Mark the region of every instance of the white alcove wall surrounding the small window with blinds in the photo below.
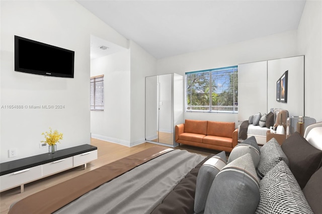
{"type": "Polygon", "coordinates": [[[91,60],[91,76],[104,74],[104,112],[91,111],[93,138],[130,145],[130,50],[91,60]]]}

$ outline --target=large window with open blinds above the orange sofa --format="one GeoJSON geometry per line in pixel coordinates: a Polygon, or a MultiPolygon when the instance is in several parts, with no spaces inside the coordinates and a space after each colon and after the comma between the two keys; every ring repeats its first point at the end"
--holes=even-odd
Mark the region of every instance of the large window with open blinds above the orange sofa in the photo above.
{"type": "Polygon", "coordinates": [[[187,72],[186,112],[238,113],[238,66],[187,72]]]}

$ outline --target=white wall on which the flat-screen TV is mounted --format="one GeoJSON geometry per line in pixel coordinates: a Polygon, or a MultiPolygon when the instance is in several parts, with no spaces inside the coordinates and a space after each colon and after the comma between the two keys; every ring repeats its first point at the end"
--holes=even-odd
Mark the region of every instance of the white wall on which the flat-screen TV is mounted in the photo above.
{"type": "Polygon", "coordinates": [[[127,40],[75,1],[0,1],[0,162],[48,152],[49,127],[63,133],[58,149],[90,144],[91,34],[127,47],[127,40]],[[14,71],[14,35],[75,51],[74,78],[14,71]],[[5,106],[23,106],[8,109],[5,106]],[[62,105],[63,109],[31,106],[62,105]],[[17,157],[9,158],[9,149],[17,157]]]}

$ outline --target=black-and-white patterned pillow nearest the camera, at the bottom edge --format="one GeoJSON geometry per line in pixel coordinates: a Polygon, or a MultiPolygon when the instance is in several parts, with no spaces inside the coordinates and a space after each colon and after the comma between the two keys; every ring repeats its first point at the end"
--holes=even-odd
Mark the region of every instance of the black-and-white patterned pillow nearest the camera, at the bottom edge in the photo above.
{"type": "Polygon", "coordinates": [[[280,161],[260,182],[261,199],[256,214],[313,213],[294,175],[280,161]]]}

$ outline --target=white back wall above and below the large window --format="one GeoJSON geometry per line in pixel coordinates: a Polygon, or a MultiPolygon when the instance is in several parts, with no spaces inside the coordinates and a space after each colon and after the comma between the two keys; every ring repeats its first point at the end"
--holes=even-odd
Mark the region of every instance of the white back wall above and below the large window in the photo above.
{"type": "MultiPolygon", "coordinates": [[[[233,66],[296,55],[296,31],[157,60],[157,74],[233,66]]],[[[237,114],[185,113],[185,119],[238,123],[237,114]]]]}

